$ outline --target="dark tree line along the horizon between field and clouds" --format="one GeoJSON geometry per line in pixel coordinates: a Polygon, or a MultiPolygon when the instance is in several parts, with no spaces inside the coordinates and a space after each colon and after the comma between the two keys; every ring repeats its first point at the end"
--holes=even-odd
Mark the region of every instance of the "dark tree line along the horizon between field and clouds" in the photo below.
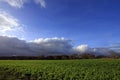
{"type": "Polygon", "coordinates": [[[94,55],[92,53],[70,54],[70,55],[48,55],[48,56],[0,56],[0,60],[67,60],[67,59],[99,59],[120,58],[120,53],[111,51],[109,55],[94,55]]]}

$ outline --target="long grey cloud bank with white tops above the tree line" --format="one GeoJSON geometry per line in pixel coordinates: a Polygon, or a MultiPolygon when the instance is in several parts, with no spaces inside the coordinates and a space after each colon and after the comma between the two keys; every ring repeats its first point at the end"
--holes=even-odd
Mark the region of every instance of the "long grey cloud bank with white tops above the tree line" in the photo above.
{"type": "Polygon", "coordinates": [[[62,55],[85,52],[108,55],[109,51],[108,48],[90,48],[88,45],[74,48],[72,40],[65,38],[39,38],[25,41],[16,37],[0,36],[0,56],[62,55]]]}

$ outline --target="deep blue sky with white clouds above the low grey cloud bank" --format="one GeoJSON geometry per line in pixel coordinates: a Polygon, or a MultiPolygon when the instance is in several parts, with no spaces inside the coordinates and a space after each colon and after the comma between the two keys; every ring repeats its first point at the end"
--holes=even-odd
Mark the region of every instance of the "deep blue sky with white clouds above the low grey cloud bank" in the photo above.
{"type": "Polygon", "coordinates": [[[119,34],[119,0],[0,0],[1,36],[108,47],[120,43],[119,34]]]}

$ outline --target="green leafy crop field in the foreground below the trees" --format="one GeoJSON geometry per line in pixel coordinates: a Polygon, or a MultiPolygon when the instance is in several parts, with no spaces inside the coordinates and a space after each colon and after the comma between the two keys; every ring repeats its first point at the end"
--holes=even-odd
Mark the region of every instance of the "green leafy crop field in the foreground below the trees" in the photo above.
{"type": "Polygon", "coordinates": [[[1,60],[0,80],[120,80],[120,60],[1,60]]]}

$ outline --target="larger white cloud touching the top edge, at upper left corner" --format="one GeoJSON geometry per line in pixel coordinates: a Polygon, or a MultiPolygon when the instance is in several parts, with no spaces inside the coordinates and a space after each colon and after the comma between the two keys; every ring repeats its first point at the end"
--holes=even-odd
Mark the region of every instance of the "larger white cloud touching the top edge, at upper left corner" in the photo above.
{"type": "Polygon", "coordinates": [[[0,0],[2,2],[7,2],[10,6],[16,7],[16,8],[22,8],[24,3],[27,0],[0,0]]]}

